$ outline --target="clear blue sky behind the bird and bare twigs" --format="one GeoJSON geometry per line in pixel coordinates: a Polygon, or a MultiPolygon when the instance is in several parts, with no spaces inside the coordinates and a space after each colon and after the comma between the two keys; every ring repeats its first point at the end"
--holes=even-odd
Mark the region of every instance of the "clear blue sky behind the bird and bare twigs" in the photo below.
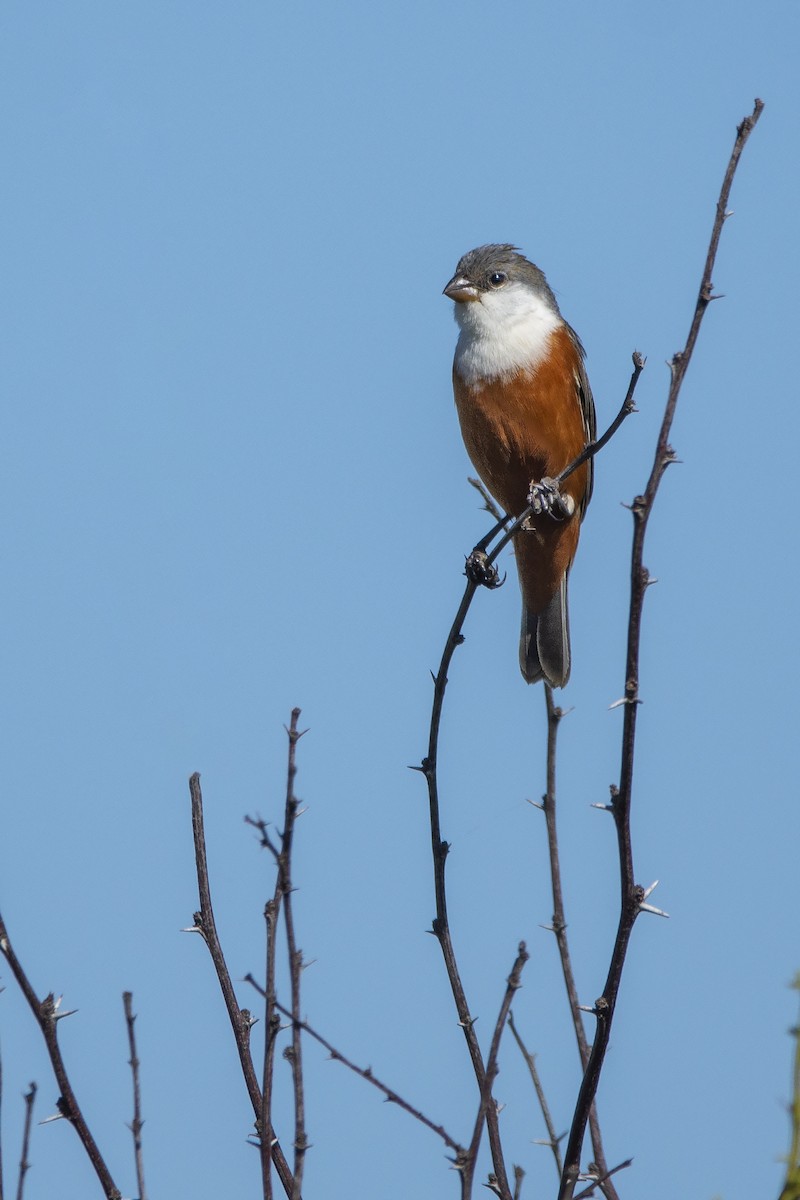
{"type": "MultiPolygon", "coordinates": [[[[616,914],[631,521],[686,335],[736,122],[712,306],[646,563],[636,928],[600,1092],[627,1196],[769,1196],[787,1144],[798,938],[796,0],[224,5],[11,2],[0,17],[4,620],[0,899],[134,1194],[121,992],[138,1010],[156,1196],[259,1194],[252,1114],[197,906],[200,770],[231,972],[263,965],[293,704],[303,1010],[468,1140],[475,1096],[435,941],[431,679],[486,528],[450,390],[458,257],[522,246],[589,353],[602,425],[630,354],[640,413],[603,454],[572,580],[560,811],[582,998],[616,914]]],[[[512,560],[507,564],[512,568],[512,560]]],[[[552,936],[543,700],[516,665],[513,578],[451,671],[443,826],[456,946],[487,1038],[516,1004],[559,1127],[578,1084],[552,936]]],[[[4,1148],[56,1087],[8,977],[4,1148]]],[[[242,985],[241,1002],[255,997],[242,985]]],[[[254,1034],[258,1038],[258,1028],[254,1034]]],[[[285,1081],[288,1068],[278,1064],[285,1081]]],[[[307,1048],[307,1196],[456,1195],[444,1147],[307,1048]]],[[[553,1193],[525,1072],[497,1093],[524,1195],[553,1193]]],[[[278,1132],[289,1146],[288,1091],[278,1132]]],[[[65,1122],[30,1200],[98,1194],[65,1122]]],[[[487,1164],[482,1163],[482,1177],[487,1164]]],[[[8,1181],[11,1187],[12,1180],[8,1181]]]]}

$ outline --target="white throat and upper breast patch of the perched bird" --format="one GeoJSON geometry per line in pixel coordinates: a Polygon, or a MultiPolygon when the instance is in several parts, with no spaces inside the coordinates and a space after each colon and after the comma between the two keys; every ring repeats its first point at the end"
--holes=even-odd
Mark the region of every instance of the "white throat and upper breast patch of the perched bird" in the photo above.
{"type": "Polygon", "coordinates": [[[535,370],[551,335],[564,324],[533,288],[517,282],[483,292],[477,300],[462,300],[455,308],[461,329],[455,366],[473,386],[535,370]]]}

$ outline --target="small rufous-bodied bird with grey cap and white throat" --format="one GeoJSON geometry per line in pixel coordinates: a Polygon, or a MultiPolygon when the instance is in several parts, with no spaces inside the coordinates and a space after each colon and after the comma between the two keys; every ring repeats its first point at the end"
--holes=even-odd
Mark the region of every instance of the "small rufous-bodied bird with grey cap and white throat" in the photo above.
{"type": "Polygon", "coordinates": [[[545,275],[515,246],[479,246],[444,289],[461,330],[453,391],[464,445],[505,512],[533,504],[515,535],[522,588],[519,667],[528,683],[570,678],[567,577],[593,485],[593,462],[552,482],[595,438],[578,335],[545,275]]]}

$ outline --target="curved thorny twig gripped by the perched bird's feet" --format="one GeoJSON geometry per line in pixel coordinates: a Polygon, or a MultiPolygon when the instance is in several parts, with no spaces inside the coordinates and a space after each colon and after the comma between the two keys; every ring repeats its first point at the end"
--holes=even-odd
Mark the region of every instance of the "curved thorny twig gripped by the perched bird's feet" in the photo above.
{"type": "MultiPolygon", "coordinates": [[[[597,451],[606,445],[608,439],[619,428],[628,413],[633,412],[633,391],[638,377],[642,372],[644,361],[640,355],[633,355],[633,374],[631,376],[631,382],[628,384],[627,394],[622,401],[622,406],[614,418],[614,421],[606,431],[606,433],[597,442],[591,443],[587,446],[582,454],[570,463],[565,470],[561,473],[559,479],[566,476],[577,468],[578,462],[584,462],[587,458],[593,457],[597,451]]],[[[452,660],[453,653],[457,646],[461,646],[464,641],[462,629],[464,626],[464,620],[467,619],[467,613],[473,602],[473,598],[479,586],[483,584],[487,587],[497,587],[498,577],[497,570],[494,568],[494,562],[503,550],[503,547],[509,542],[513,532],[519,528],[527,516],[530,515],[530,509],[517,520],[515,520],[511,528],[500,539],[500,542],[494,547],[491,554],[487,554],[487,547],[494,539],[497,533],[506,526],[510,517],[500,518],[493,529],[486,534],[481,541],[477,542],[471,554],[467,560],[467,586],[464,588],[464,595],[462,596],[461,604],[453,623],[450,626],[447,638],[445,641],[444,650],[441,653],[441,661],[439,664],[439,671],[433,677],[433,703],[431,707],[431,726],[428,731],[428,752],[422,760],[420,767],[415,767],[415,770],[421,770],[425,775],[428,786],[428,806],[429,806],[429,818],[431,818],[431,845],[433,851],[433,886],[435,895],[437,916],[433,920],[433,934],[439,941],[441,947],[441,953],[445,960],[445,970],[447,972],[447,979],[450,980],[450,988],[456,1003],[456,1012],[458,1014],[458,1024],[461,1025],[464,1038],[467,1040],[467,1048],[473,1063],[473,1070],[475,1072],[475,1079],[477,1081],[479,1091],[483,1093],[486,1069],[483,1067],[483,1057],[481,1055],[481,1048],[479,1045],[477,1036],[474,1028],[474,1018],[470,1014],[469,1004],[467,1002],[467,995],[464,992],[464,986],[461,979],[461,973],[458,971],[458,965],[456,961],[456,953],[452,944],[452,937],[450,932],[450,923],[447,920],[447,894],[445,888],[445,862],[447,858],[447,852],[450,846],[444,841],[441,836],[441,822],[439,816],[439,782],[438,782],[438,756],[439,756],[439,728],[441,724],[441,710],[444,706],[445,690],[447,688],[447,671],[450,670],[450,662],[452,660]]],[[[509,1187],[509,1180],[505,1174],[505,1166],[503,1163],[503,1148],[500,1145],[500,1130],[497,1118],[497,1111],[489,1106],[486,1115],[487,1132],[489,1139],[489,1147],[492,1151],[492,1159],[494,1164],[494,1172],[498,1178],[498,1187],[501,1188],[501,1195],[510,1200],[511,1190],[509,1187]]]]}

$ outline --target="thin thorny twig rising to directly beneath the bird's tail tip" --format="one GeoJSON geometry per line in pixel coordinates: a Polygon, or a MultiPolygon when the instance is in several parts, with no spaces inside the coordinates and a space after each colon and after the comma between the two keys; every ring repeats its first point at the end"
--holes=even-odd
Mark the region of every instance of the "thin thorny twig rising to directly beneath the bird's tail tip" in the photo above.
{"type": "MultiPolygon", "coordinates": [[[[553,689],[547,683],[545,684],[545,704],[547,708],[547,792],[542,797],[542,809],[545,811],[545,822],[547,826],[547,848],[549,852],[551,886],[553,889],[553,932],[555,935],[555,944],[561,960],[561,973],[566,986],[570,1014],[572,1016],[572,1027],[575,1028],[575,1037],[578,1044],[581,1069],[585,1072],[587,1063],[589,1062],[589,1042],[583,1025],[578,989],[575,983],[575,972],[572,971],[572,959],[570,956],[570,943],[566,935],[566,910],[564,907],[564,890],[561,888],[561,866],[558,844],[555,750],[559,725],[564,718],[564,710],[554,703],[553,689]]],[[[597,1108],[594,1103],[589,1112],[589,1133],[591,1136],[594,1159],[600,1172],[606,1176],[606,1182],[602,1188],[603,1195],[607,1200],[619,1200],[616,1188],[610,1182],[608,1176],[608,1164],[606,1162],[606,1152],[603,1150],[603,1140],[600,1132],[600,1120],[597,1117],[597,1108]]],[[[561,1170],[563,1166],[559,1166],[559,1175],[561,1174],[561,1170]]]]}

